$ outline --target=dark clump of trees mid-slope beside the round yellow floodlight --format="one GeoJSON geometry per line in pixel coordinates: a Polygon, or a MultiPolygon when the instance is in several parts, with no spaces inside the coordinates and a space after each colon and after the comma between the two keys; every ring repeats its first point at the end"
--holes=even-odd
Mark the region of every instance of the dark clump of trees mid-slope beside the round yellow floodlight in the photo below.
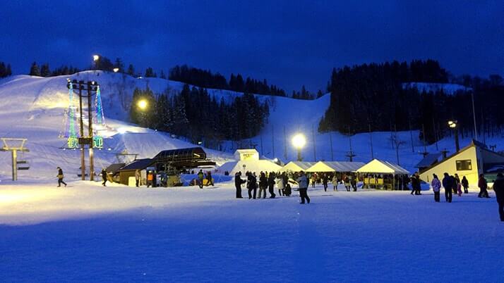
{"type": "Polygon", "coordinates": [[[268,103],[252,94],[244,93],[232,101],[219,101],[202,87],[184,84],[178,94],[169,90],[153,94],[150,89],[135,89],[130,117],[144,127],[188,137],[191,142],[204,142],[213,146],[220,141],[247,139],[258,134],[268,121],[268,103]],[[148,102],[145,111],[138,108],[138,101],[148,102]],[[212,144],[215,143],[215,144],[212,144]]]}

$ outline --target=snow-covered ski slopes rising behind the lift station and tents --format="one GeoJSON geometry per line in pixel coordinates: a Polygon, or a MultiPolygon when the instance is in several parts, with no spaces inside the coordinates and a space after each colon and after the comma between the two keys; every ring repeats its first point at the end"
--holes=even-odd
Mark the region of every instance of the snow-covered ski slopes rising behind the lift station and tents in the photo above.
{"type": "MultiPolygon", "coordinates": [[[[170,137],[169,133],[136,127],[128,122],[128,110],[131,94],[136,87],[150,87],[153,92],[160,93],[167,89],[178,92],[183,84],[159,78],[136,79],[128,75],[104,73],[101,71],[85,71],[71,76],[60,77],[30,77],[17,75],[0,80],[0,137],[22,137],[28,139],[29,153],[21,154],[19,159],[28,160],[31,168],[20,171],[20,179],[47,179],[54,177],[56,166],[65,168],[69,179],[76,179],[80,166],[78,151],[63,150],[65,140],[59,138],[64,132],[64,111],[68,107],[68,89],[66,79],[95,80],[100,83],[104,115],[107,129],[102,131],[106,137],[104,150],[97,151],[95,168],[116,161],[116,153],[138,153],[139,158],[152,157],[163,149],[175,149],[193,146],[188,142],[170,137]],[[75,174],[73,174],[75,173],[75,174]]],[[[232,99],[241,94],[219,89],[209,89],[209,94],[217,99],[232,99]]],[[[232,158],[232,153],[239,146],[252,144],[266,158],[280,158],[290,161],[296,158],[296,151],[290,144],[290,137],[296,132],[306,134],[307,144],[302,149],[305,161],[330,160],[332,138],[333,156],[335,160],[347,160],[349,138],[338,132],[320,134],[317,131],[318,121],[329,106],[329,95],[313,101],[289,99],[280,96],[258,95],[261,100],[270,104],[268,125],[260,135],[253,139],[236,142],[223,142],[222,151],[208,150],[210,158],[217,163],[224,163],[232,158]],[[315,131],[314,141],[312,128],[315,131]],[[285,134],[284,134],[285,133],[285,134]],[[315,146],[313,146],[315,145],[315,146]],[[315,148],[315,149],[314,149],[315,148]]],[[[204,122],[204,121],[201,121],[204,122]]],[[[373,132],[373,156],[396,162],[396,153],[390,142],[390,132],[373,132]]],[[[397,136],[405,142],[400,147],[400,163],[409,170],[421,159],[419,151],[423,144],[418,139],[418,131],[399,132],[397,136]],[[414,150],[412,150],[412,143],[414,150]]],[[[462,139],[464,146],[469,139],[462,139]]],[[[487,139],[488,142],[488,139],[487,139]]],[[[490,140],[501,149],[501,139],[490,140]]],[[[451,139],[443,139],[438,144],[439,149],[452,151],[451,139]]],[[[371,159],[370,135],[356,134],[352,137],[352,149],[356,154],[354,160],[367,162],[371,159]]],[[[436,146],[428,146],[428,151],[436,151],[436,146]]],[[[8,180],[11,176],[11,158],[9,153],[0,153],[0,180],[8,180]]]]}

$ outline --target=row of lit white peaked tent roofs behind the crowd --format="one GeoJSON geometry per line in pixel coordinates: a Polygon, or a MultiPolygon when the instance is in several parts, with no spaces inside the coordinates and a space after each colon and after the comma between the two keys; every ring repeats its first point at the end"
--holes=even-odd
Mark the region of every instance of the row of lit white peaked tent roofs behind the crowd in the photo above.
{"type": "Polygon", "coordinates": [[[244,174],[250,172],[358,172],[363,174],[392,174],[409,175],[408,170],[400,165],[373,159],[369,163],[346,162],[346,161],[318,161],[303,162],[291,161],[283,167],[268,160],[244,160],[224,163],[219,168],[220,172],[229,172],[234,175],[236,172],[244,174]]]}

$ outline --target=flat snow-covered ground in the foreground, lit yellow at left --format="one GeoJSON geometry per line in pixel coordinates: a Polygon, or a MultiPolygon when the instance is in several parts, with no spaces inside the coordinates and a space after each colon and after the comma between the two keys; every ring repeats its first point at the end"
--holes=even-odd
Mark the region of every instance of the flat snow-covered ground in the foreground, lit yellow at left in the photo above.
{"type": "Polygon", "coordinates": [[[296,191],[248,200],[217,186],[4,182],[0,281],[502,281],[504,225],[474,191],[434,203],[319,186],[299,205],[296,191]]]}

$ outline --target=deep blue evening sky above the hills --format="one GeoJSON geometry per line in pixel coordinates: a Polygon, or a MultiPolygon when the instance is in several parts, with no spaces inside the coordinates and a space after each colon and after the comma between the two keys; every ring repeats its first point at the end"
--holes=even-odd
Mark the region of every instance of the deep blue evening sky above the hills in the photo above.
{"type": "Polygon", "coordinates": [[[434,58],[503,74],[504,1],[0,1],[0,61],[86,68],[92,54],[324,89],[333,67],[434,58]]]}

